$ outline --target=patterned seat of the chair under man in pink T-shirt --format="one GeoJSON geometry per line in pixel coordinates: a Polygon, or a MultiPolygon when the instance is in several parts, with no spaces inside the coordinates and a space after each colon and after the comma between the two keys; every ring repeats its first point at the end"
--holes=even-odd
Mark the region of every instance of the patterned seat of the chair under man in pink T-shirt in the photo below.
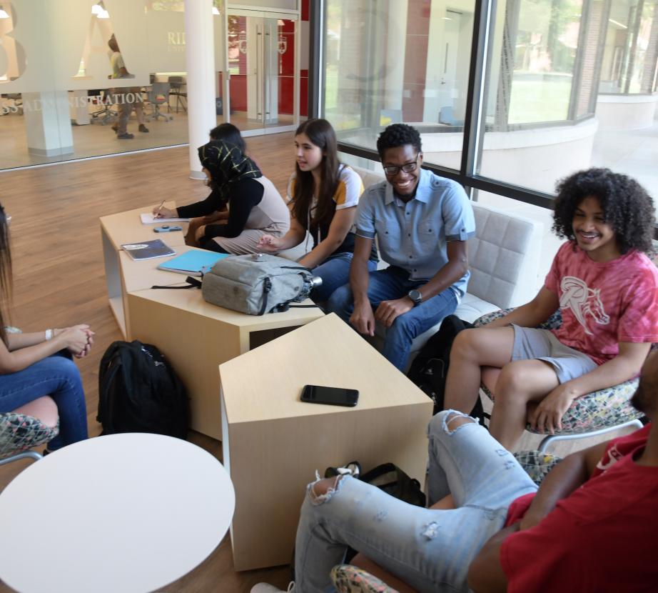
{"type": "MultiPolygon", "coordinates": [[[[482,315],[475,321],[476,327],[482,327],[494,319],[506,315],[513,309],[505,309],[482,315]]],[[[562,315],[558,309],[546,322],[540,325],[543,329],[557,329],[562,324],[562,315]]],[[[584,434],[602,428],[615,427],[623,422],[642,417],[642,412],[632,407],[630,399],[637,389],[638,379],[629,379],[614,387],[599,389],[597,392],[579,397],[571,404],[564,417],[562,417],[562,430],[555,434],[584,434]]],[[[487,387],[482,385],[482,392],[492,401],[494,397],[487,387]]],[[[538,434],[536,430],[526,427],[529,432],[538,434]]]]}

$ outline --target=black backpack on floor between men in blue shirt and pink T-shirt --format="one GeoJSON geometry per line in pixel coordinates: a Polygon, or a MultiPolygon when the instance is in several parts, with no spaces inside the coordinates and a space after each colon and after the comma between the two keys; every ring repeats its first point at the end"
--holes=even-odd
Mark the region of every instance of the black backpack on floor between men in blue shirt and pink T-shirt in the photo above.
{"type": "MultiPolygon", "coordinates": [[[[462,329],[471,327],[475,326],[462,321],[456,315],[448,315],[442,321],[439,331],[427,340],[427,344],[422,347],[411,364],[407,377],[434,402],[433,414],[443,409],[445,379],[450,364],[452,342],[462,329]]],[[[479,397],[470,415],[477,418],[484,426],[485,412],[479,397]]]]}

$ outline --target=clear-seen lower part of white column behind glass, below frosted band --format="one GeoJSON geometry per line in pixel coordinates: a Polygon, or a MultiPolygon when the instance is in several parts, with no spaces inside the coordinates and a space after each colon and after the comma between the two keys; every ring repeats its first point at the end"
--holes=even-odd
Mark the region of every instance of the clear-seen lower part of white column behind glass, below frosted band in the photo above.
{"type": "Polygon", "coordinates": [[[59,156],[74,151],[69,93],[23,93],[23,113],[29,154],[59,156]]]}

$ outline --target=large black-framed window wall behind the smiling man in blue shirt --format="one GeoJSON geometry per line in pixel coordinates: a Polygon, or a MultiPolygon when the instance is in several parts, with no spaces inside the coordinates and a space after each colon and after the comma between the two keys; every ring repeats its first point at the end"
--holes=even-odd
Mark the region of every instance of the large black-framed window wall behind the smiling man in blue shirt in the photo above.
{"type": "Polygon", "coordinates": [[[475,15],[467,0],[327,0],[323,113],[345,151],[375,161],[383,126],[417,126],[425,164],[487,195],[548,206],[589,166],[658,195],[656,5],[485,0],[475,15]]]}

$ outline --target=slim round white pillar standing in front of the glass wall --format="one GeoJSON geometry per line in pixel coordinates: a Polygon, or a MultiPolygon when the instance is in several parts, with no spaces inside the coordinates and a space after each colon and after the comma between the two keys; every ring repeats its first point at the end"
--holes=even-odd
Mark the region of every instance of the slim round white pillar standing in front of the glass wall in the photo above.
{"type": "Polygon", "coordinates": [[[203,179],[197,149],[208,142],[217,121],[213,0],[185,0],[185,43],[190,176],[203,179]]]}

